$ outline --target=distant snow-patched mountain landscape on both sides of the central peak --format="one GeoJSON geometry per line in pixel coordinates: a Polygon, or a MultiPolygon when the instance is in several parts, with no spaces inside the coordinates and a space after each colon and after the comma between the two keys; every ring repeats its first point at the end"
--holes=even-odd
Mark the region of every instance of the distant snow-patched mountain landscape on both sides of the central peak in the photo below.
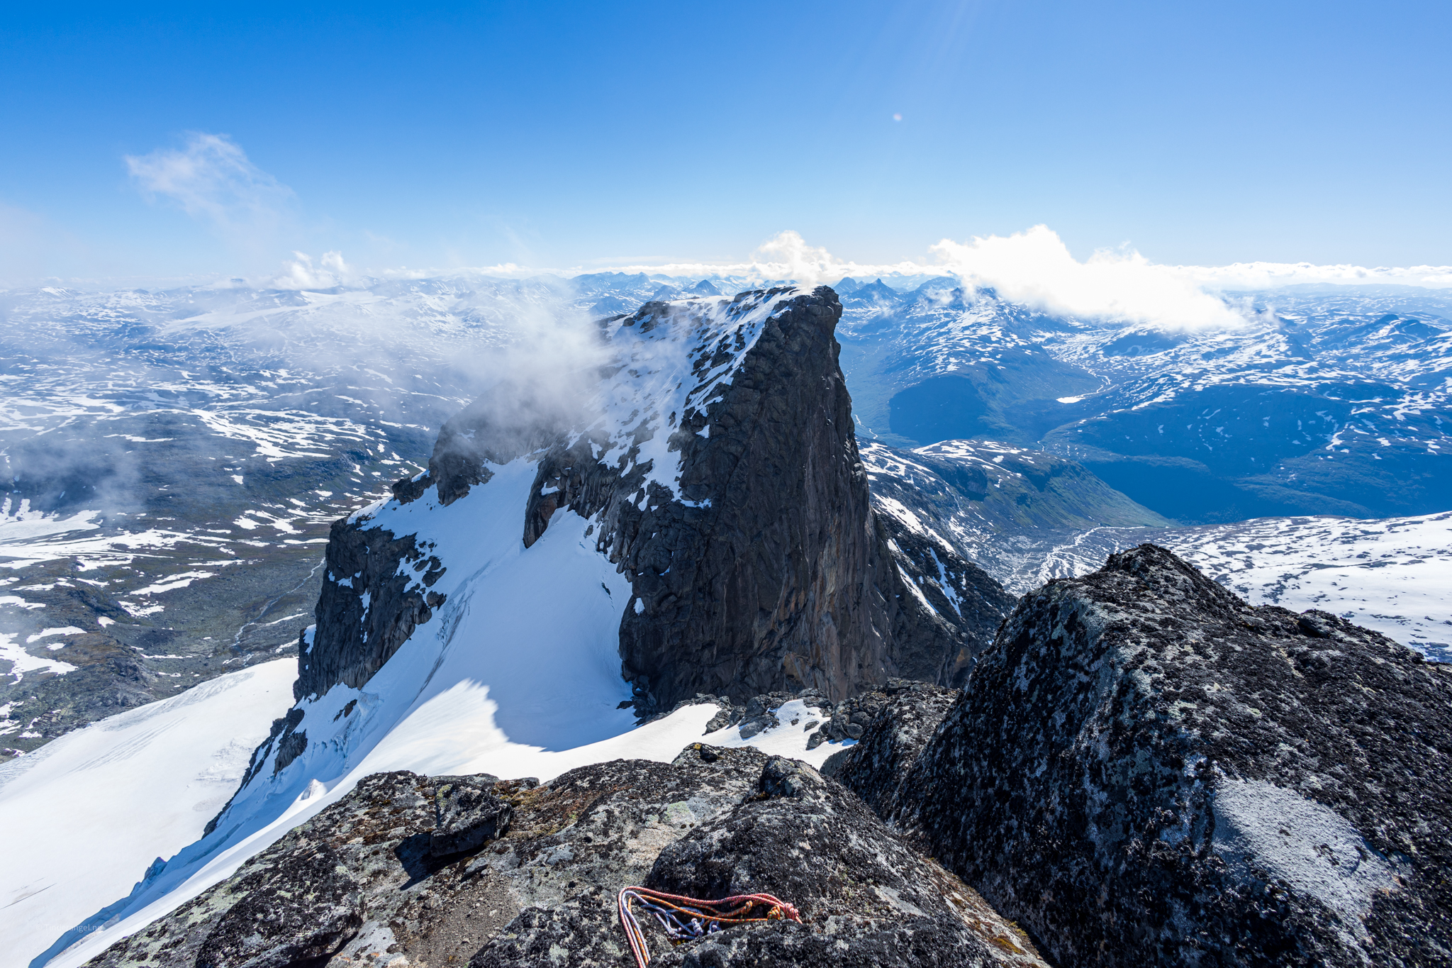
{"type": "MultiPolygon", "coordinates": [[[[886,501],[916,508],[1013,591],[1131,534],[1105,528],[1452,508],[1437,293],[1256,293],[1243,328],[1191,332],[892,282],[836,286],[874,501],[890,521],[886,501]]],[[[293,655],[330,522],[420,470],[511,367],[563,351],[552,319],[742,284],[0,293],[0,756],[293,655]]],[[[1440,640],[1445,617],[1403,618],[1440,640]]]]}

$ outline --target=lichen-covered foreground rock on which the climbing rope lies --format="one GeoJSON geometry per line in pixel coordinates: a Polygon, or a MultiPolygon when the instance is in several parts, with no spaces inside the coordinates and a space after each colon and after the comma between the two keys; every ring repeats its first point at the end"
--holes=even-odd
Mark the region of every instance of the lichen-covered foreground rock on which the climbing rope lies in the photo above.
{"type": "Polygon", "coordinates": [[[701,745],[674,763],[614,760],[543,785],[375,774],[90,964],[619,968],[630,955],[616,893],[627,884],[770,891],[803,913],[804,924],[735,927],[681,948],[646,919],[652,965],[665,968],[1044,964],[841,785],[796,760],[701,745]],[[510,808],[508,827],[431,852],[436,819],[466,817],[484,797],[510,808]]]}

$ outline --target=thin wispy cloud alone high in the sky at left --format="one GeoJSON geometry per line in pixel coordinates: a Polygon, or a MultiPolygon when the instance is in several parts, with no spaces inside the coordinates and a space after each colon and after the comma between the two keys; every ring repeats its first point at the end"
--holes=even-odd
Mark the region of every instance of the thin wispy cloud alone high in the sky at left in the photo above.
{"type": "Polygon", "coordinates": [[[193,134],[186,147],[126,155],[126,168],[148,196],[179,205],[234,241],[256,242],[287,218],[292,189],[248,158],[227,135],[193,134]]]}

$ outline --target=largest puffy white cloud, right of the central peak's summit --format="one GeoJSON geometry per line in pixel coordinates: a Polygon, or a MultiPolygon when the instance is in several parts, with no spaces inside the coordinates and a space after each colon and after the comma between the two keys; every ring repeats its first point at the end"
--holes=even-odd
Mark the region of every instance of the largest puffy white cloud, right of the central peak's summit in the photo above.
{"type": "Polygon", "coordinates": [[[1006,238],[942,239],[932,251],[964,282],[1050,313],[1173,328],[1243,322],[1185,267],[1156,266],[1133,251],[1095,253],[1080,263],[1047,225],[1006,238]]]}

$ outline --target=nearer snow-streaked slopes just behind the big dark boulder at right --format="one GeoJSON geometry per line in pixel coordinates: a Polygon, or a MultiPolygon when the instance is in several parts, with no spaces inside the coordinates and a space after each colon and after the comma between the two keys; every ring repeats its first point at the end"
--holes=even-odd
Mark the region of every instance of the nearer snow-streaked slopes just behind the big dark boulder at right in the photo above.
{"type": "Polygon", "coordinates": [[[1150,541],[1253,605],[1320,608],[1452,662],[1452,512],[1170,527],[1041,450],[964,440],[915,450],[864,444],[862,460],[884,518],[957,549],[1012,594],[1088,575],[1109,554],[1150,541]]]}

